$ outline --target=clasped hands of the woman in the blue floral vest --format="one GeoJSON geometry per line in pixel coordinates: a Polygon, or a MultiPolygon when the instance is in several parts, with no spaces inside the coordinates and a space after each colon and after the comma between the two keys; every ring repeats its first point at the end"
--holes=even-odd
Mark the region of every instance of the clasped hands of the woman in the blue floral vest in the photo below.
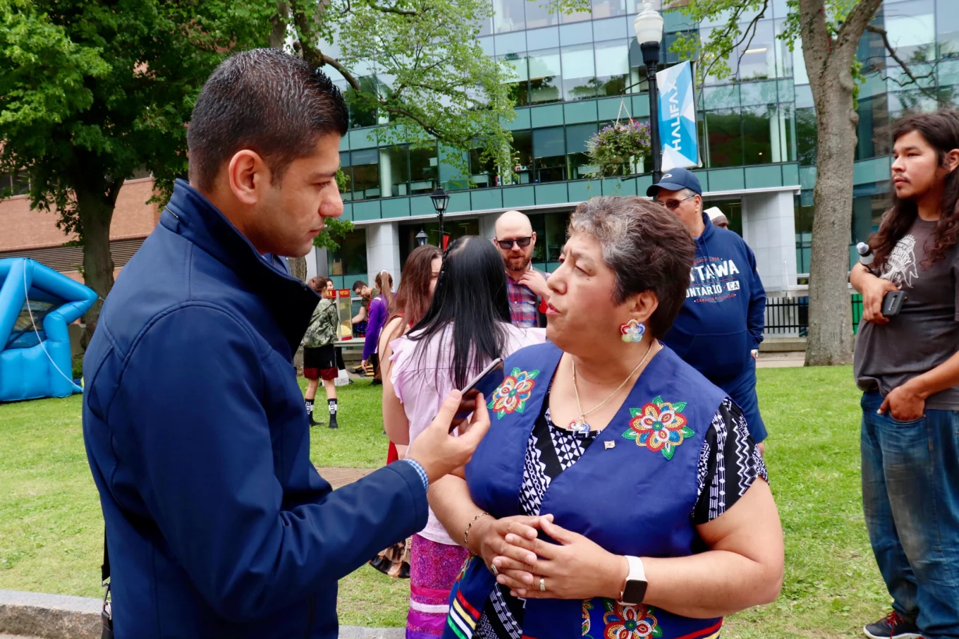
{"type": "Polygon", "coordinates": [[[626,558],[554,524],[551,514],[480,521],[477,542],[470,545],[514,597],[619,599],[629,572],[626,558]],[[557,543],[540,538],[538,531],[557,543]]]}

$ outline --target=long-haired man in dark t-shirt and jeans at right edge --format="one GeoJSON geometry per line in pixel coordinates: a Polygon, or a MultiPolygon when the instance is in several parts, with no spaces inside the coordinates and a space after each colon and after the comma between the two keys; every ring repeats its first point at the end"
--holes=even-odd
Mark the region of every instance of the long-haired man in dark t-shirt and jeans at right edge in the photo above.
{"type": "Polygon", "coordinates": [[[959,116],[894,132],[893,207],[850,276],[863,317],[862,501],[893,611],[870,637],[959,637],[959,116]],[[883,298],[901,291],[898,314],[883,298]]]}

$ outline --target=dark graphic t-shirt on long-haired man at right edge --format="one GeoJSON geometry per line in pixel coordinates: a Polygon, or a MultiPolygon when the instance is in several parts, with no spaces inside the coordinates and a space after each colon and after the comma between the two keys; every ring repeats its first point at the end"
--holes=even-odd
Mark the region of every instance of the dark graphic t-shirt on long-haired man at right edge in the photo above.
{"type": "MultiPolygon", "coordinates": [[[[959,349],[959,246],[924,267],[935,229],[936,222],[917,218],[882,267],[882,277],[908,298],[889,323],[859,323],[854,372],[862,390],[878,389],[885,396],[959,349]]],[[[959,411],[959,386],[929,396],[925,407],[959,411]]]]}

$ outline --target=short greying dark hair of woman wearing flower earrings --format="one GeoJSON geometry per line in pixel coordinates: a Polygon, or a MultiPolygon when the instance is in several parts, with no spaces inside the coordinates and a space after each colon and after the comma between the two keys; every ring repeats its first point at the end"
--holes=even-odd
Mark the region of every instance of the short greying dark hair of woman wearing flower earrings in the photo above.
{"type": "Polygon", "coordinates": [[[569,233],[598,240],[603,262],[616,273],[614,302],[644,291],[656,294],[659,306],[647,323],[653,337],[665,336],[686,301],[696,252],[679,218],[636,196],[593,198],[573,211],[569,233]]]}

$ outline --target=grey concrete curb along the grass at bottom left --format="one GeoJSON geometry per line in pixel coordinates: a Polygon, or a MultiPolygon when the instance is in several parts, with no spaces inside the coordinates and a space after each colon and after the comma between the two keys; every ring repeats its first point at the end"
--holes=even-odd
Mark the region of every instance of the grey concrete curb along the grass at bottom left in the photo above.
{"type": "MultiPolygon", "coordinates": [[[[0,590],[0,639],[100,639],[101,601],[0,590]]],[[[340,626],[339,639],[403,639],[400,627],[340,626]]]]}

